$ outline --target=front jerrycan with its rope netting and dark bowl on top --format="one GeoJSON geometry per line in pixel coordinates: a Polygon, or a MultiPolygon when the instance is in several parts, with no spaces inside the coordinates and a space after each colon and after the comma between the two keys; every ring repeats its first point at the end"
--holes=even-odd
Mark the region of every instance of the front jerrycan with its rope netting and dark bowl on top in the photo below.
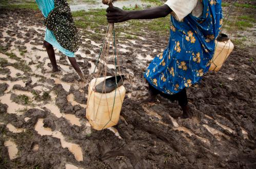
{"type": "MultiPolygon", "coordinates": [[[[102,1],[112,7],[113,0],[102,1]]],[[[99,57],[97,58],[94,79],[89,84],[86,118],[95,130],[103,130],[119,122],[122,104],[125,98],[124,76],[121,75],[114,24],[109,23],[99,57]],[[108,64],[114,64],[114,76],[110,74],[108,64]],[[117,74],[117,66],[119,75],[117,74]]]]}

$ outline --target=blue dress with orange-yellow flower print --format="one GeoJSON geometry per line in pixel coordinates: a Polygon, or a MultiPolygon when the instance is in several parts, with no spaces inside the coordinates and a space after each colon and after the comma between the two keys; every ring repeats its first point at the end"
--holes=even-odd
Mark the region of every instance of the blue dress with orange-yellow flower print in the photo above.
{"type": "Polygon", "coordinates": [[[156,89],[175,94],[198,83],[209,70],[222,24],[221,0],[202,0],[201,17],[171,16],[169,44],[148,66],[145,78],[156,89]]]}

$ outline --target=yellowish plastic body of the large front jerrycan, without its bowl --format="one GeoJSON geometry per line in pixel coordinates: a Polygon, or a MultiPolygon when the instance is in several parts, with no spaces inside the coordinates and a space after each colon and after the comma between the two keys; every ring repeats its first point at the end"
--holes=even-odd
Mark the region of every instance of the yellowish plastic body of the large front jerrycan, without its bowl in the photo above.
{"type": "MultiPolygon", "coordinates": [[[[106,77],[108,79],[110,77],[106,77]]],[[[93,79],[88,88],[86,118],[95,130],[103,130],[119,122],[122,104],[125,98],[125,87],[121,85],[109,93],[96,92],[95,86],[105,78],[93,79]]]]}

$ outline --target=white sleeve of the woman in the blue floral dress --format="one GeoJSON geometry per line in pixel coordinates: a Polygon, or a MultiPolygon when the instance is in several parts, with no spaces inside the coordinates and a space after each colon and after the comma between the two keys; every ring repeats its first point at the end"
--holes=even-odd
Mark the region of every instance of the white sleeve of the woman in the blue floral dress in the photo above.
{"type": "Polygon", "coordinates": [[[198,0],[167,0],[165,4],[171,8],[175,19],[181,21],[193,11],[197,3],[198,0]]]}

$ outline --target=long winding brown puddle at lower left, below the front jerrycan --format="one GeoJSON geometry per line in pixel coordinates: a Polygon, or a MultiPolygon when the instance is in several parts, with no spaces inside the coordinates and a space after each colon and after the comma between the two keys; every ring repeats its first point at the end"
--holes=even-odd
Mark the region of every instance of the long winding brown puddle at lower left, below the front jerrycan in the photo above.
{"type": "Polygon", "coordinates": [[[77,161],[83,161],[82,149],[79,145],[71,142],[67,142],[63,134],[59,131],[51,131],[50,128],[44,128],[43,118],[39,118],[35,125],[35,131],[40,135],[49,135],[61,140],[61,145],[63,148],[68,148],[68,150],[74,155],[77,161]]]}

